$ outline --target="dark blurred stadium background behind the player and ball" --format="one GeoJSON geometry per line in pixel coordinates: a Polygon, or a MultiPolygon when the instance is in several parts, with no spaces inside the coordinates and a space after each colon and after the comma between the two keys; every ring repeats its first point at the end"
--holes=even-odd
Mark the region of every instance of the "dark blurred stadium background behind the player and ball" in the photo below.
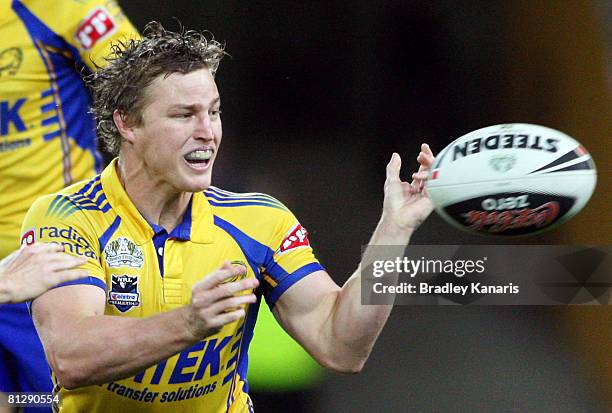
{"type": "MultiPolygon", "coordinates": [[[[384,167],[418,144],[539,123],[593,153],[599,184],[563,228],[521,243],[610,244],[612,5],[601,1],[131,0],[208,29],[224,141],[214,184],[281,199],[345,281],[380,214],[384,167]],[[606,66],[607,65],[607,66],[606,66]]],[[[416,243],[490,243],[432,216],[416,243]]],[[[320,411],[597,412],[612,406],[610,307],[400,307],[359,376],[330,375],[320,411]]],[[[279,362],[281,362],[279,360],[279,362]]]]}

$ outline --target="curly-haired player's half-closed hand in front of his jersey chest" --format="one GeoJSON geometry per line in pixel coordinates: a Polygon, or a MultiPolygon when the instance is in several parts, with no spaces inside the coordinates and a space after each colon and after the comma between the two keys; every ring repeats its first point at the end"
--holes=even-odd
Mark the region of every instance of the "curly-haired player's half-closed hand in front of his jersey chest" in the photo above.
{"type": "Polygon", "coordinates": [[[257,301],[255,294],[248,293],[259,285],[257,279],[227,282],[245,272],[244,266],[225,262],[193,286],[186,321],[194,338],[204,339],[219,332],[224,325],[244,317],[244,307],[257,301]]]}

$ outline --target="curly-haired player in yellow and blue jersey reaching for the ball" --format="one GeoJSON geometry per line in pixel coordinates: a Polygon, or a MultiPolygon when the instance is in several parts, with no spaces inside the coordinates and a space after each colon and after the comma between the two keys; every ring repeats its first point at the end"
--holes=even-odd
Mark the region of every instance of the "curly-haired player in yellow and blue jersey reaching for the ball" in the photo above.
{"type": "MultiPolygon", "coordinates": [[[[248,346],[260,298],[323,366],[359,372],[391,305],[361,305],[278,200],[211,186],[222,138],[214,75],[224,51],[158,23],[92,75],[98,135],[118,155],[101,175],[36,201],[36,242],[87,258],[88,276],[32,313],[60,412],[249,412],[248,346]]],[[[422,145],[413,183],[387,165],[373,245],[405,246],[431,212],[422,145]]]]}

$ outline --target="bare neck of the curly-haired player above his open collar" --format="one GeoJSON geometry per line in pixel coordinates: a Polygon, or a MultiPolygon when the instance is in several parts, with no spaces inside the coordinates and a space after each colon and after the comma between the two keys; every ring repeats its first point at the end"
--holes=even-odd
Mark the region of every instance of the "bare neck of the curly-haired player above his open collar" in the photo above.
{"type": "Polygon", "coordinates": [[[147,179],[140,170],[126,171],[121,162],[117,173],[123,188],[140,214],[151,224],[171,232],[183,219],[191,200],[191,192],[176,192],[168,185],[147,179]]]}

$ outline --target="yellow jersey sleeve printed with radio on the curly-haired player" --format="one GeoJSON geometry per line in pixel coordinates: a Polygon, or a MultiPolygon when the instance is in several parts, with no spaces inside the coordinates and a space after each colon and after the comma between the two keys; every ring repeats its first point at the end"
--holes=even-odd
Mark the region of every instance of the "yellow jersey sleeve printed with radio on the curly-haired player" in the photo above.
{"type": "MultiPolygon", "coordinates": [[[[89,284],[106,290],[105,273],[100,261],[100,243],[87,217],[80,211],[60,218],[49,211],[57,211],[62,195],[39,198],[28,211],[22,226],[21,244],[58,243],[67,254],[84,257],[87,262],[80,268],[89,276],[57,285],[89,284]]],[[[65,197],[63,198],[66,199],[65,197]]],[[[66,202],[66,204],[68,204],[66,202]]]]}

